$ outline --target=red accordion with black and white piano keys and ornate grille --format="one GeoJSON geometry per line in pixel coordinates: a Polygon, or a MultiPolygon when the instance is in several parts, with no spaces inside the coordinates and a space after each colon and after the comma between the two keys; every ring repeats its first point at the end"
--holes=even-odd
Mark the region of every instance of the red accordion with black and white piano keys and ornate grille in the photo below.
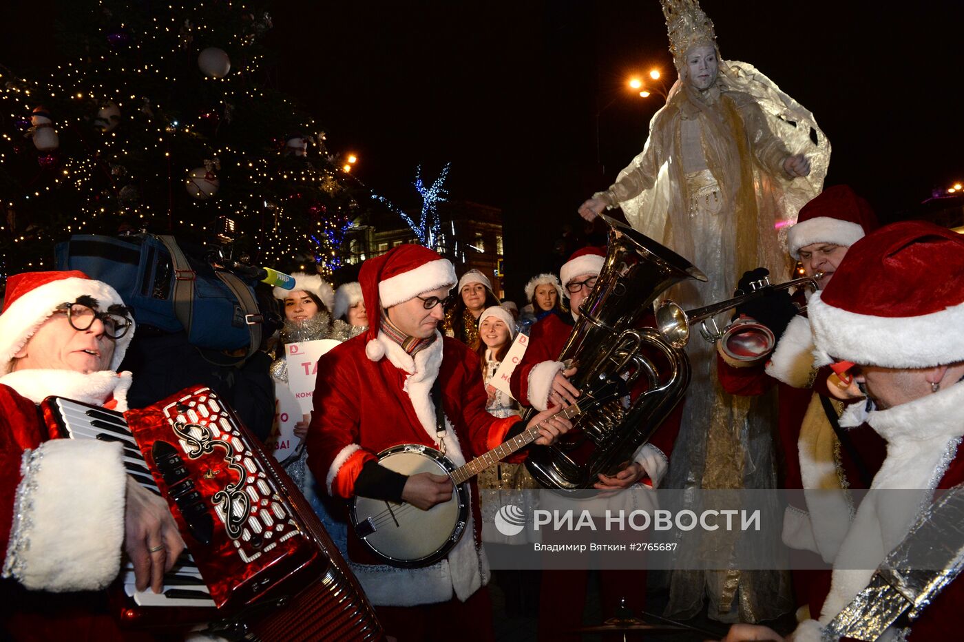
{"type": "Polygon", "coordinates": [[[163,496],[187,544],[164,591],[117,591],[121,625],[261,640],[378,640],[374,609],[308,501],[218,396],[185,388],[120,414],[48,397],[54,438],[117,441],[128,474],[163,496]]]}

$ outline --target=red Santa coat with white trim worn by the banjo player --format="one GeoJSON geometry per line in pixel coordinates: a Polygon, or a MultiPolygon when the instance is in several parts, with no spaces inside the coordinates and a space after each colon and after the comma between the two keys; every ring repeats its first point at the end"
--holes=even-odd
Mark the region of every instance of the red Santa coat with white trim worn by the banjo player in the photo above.
{"type": "MultiPolygon", "coordinates": [[[[366,335],[336,346],[320,361],[308,428],[308,468],[325,480],[331,495],[350,498],[365,463],[401,443],[439,447],[431,388],[442,382],[445,455],[461,466],[505,440],[519,417],[495,418],[485,410],[486,392],[478,358],[461,342],[438,335],[415,359],[379,333],[385,357],[371,361],[366,335]]],[[[376,606],[463,602],[489,579],[481,545],[478,492],[470,482],[471,531],[442,561],[420,569],[379,565],[349,535],[352,570],[376,606]]]]}

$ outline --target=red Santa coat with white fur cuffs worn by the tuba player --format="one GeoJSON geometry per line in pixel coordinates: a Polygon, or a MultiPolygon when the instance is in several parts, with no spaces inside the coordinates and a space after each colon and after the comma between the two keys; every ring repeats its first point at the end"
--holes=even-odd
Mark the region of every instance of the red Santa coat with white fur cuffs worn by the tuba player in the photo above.
{"type": "MultiPolygon", "coordinates": [[[[536,410],[548,408],[552,379],[563,370],[562,362],[556,359],[572,331],[573,326],[554,313],[532,326],[529,346],[525,349],[522,361],[512,371],[509,381],[512,395],[523,406],[532,406],[536,410]]],[[[640,378],[637,387],[632,390],[633,399],[645,389],[641,388],[643,385],[645,382],[640,378]]],[[[650,441],[643,444],[633,457],[646,470],[654,488],[658,487],[669,468],[669,455],[680,432],[682,416],[683,404],[680,403],[656,429],[650,441]]]]}

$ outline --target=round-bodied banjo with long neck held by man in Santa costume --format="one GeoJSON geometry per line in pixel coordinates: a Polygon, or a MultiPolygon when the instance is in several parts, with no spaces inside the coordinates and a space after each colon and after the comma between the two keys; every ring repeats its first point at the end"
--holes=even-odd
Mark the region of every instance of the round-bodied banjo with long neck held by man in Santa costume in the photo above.
{"type": "MultiPolygon", "coordinates": [[[[616,396],[619,396],[617,382],[607,381],[594,392],[583,394],[578,403],[564,408],[558,415],[569,419],[616,396]]],[[[539,425],[536,425],[461,467],[456,467],[436,448],[421,443],[402,443],[383,450],[378,454],[380,466],[404,475],[419,472],[447,475],[454,486],[452,496],[427,511],[404,501],[356,496],[349,509],[355,533],[371,553],[391,566],[416,568],[434,564],[458,544],[469,526],[469,480],[538,437],[539,425]]]]}

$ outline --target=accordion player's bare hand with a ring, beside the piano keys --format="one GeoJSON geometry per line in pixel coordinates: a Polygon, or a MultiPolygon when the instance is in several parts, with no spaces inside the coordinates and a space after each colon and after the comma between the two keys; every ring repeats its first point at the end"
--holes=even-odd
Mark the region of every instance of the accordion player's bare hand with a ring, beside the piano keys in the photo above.
{"type": "Polygon", "coordinates": [[[124,505],[124,551],[134,566],[138,591],[147,586],[154,593],[164,588],[164,574],[184,550],[184,540],[168,508],[168,502],[127,477],[124,505]]]}

